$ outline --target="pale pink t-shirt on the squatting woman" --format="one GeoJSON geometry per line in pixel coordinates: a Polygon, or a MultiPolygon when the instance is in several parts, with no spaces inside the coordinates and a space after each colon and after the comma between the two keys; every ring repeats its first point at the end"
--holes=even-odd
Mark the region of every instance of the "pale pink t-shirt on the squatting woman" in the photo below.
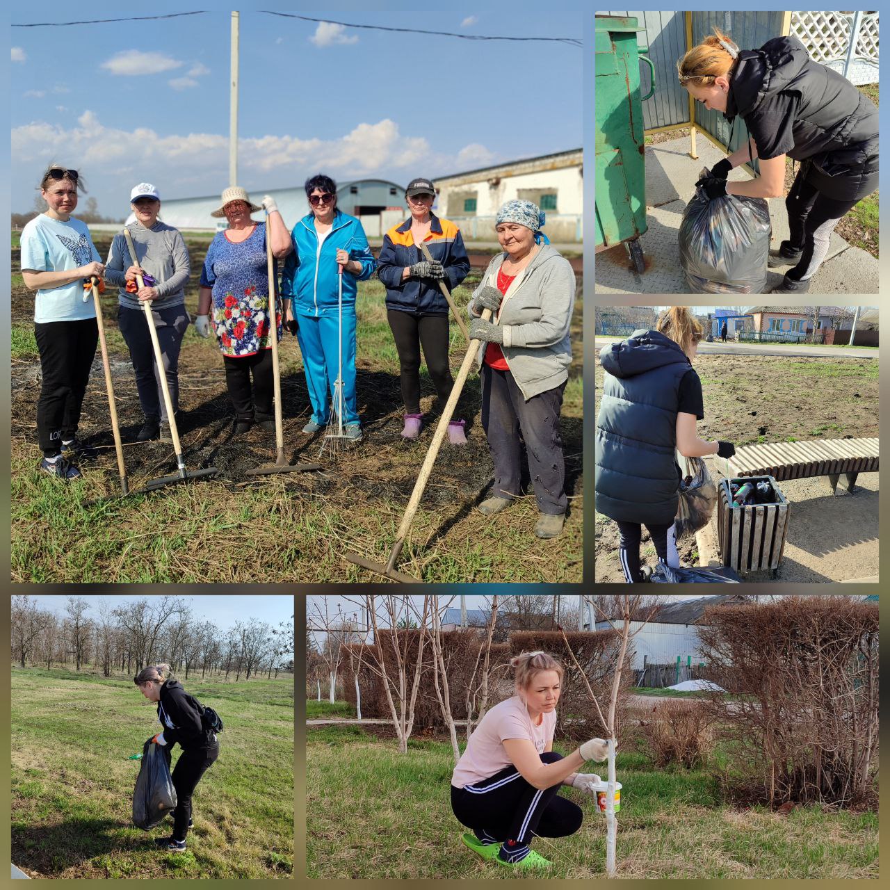
{"type": "Polygon", "coordinates": [[[543,719],[539,726],[532,724],[529,712],[518,695],[491,708],[466,743],[466,750],[451,774],[451,784],[455,788],[464,788],[465,785],[490,779],[506,766],[512,766],[513,761],[504,747],[505,739],[528,739],[538,754],[543,754],[544,748],[554,737],[556,711],[554,709],[541,716],[543,719]]]}

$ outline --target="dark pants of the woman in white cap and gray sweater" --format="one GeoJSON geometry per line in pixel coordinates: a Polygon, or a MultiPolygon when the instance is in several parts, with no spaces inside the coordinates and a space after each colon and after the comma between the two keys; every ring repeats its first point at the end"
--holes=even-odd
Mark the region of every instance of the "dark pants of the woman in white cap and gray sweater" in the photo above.
{"type": "MultiPolygon", "coordinates": [[[[185,311],[185,306],[180,304],[152,309],[151,314],[155,320],[155,330],[158,331],[158,345],[161,348],[161,360],[164,362],[170,401],[173,402],[174,411],[178,411],[179,351],[185,329],[189,327],[189,313],[185,311]]],[[[166,416],[164,394],[161,391],[158,365],[155,362],[155,351],[151,345],[145,311],[131,309],[129,306],[118,306],[117,325],[130,350],[142,414],[147,420],[169,420],[170,418],[166,416]]]]}

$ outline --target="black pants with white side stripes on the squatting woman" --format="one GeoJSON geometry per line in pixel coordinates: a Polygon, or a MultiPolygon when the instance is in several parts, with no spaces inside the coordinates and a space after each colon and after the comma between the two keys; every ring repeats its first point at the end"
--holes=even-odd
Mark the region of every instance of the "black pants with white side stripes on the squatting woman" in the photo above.
{"type": "MultiPolygon", "coordinates": [[[[545,764],[562,760],[555,751],[539,756],[545,764]]],[[[485,781],[464,788],[452,785],[451,809],[462,825],[501,843],[529,844],[533,836],[568,837],[581,827],[584,813],[557,794],[561,787],[534,788],[515,766],[507,766],[485,781]]]]}

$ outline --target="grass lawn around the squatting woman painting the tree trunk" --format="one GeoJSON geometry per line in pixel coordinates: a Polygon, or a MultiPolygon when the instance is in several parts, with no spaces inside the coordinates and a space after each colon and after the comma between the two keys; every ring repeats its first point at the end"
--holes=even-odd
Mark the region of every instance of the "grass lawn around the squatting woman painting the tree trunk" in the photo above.
{"type": "MultiPolygon", "coordinates": [[[[400,755],[360,726],[307,732],[308,878],[512,877],[460,843],[448,742],[410,740],[400,755]]],[[[713,770],[728,764],[718,751],[713,770]]],[[[618,778],[621,878],[878,878],[878,813],[733,808],[711,770],[654,770],[639,753],[619,754],[618,778]]],[[[585,819],[572,837],[533,842],[553,863],[546,878],[603,878],[603,814],[575,789],[561,794],[585,819]]]]}

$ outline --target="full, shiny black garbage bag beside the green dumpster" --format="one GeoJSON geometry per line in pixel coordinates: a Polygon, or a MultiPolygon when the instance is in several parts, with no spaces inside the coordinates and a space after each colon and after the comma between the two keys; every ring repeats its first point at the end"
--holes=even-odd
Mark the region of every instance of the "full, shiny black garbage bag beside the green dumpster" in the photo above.
{"type": "MultiPolygon", "coordinates": [[[[707,177],[706,167],[701,171],[707,177]]],[[[708,198],[699,186],[680,222],[680,264],[693,294],[761,294],[770,252],[764,198],[708,198]]]]}

